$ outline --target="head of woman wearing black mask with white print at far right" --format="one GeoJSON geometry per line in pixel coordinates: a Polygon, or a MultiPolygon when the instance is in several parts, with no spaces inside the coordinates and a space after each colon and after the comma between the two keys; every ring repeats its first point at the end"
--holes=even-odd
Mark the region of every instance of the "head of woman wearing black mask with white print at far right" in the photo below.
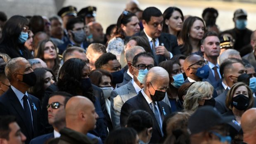
{"type": "Polygon", "coordinates": [[[254,105],[251,89],[245,83],[236,83],[228,91],[225,105],[229,109],[223,116],[234,116],[234,120],[241,123],[241,116],[254,105]]]}

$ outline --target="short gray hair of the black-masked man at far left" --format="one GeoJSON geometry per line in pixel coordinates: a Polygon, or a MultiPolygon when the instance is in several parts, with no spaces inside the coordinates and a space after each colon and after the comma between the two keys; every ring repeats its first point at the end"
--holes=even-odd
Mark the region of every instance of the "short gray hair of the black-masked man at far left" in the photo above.
{"type": "Polygon", "coordinates": [[[16,57],[13,59],[10,59],[8,63],[5,66],[5,75],[8,78],[9,81],[12,80],[12,74],[16,73],[19,68],[21,68],[18,61],[26,60],[23,57],[16,57]]]}

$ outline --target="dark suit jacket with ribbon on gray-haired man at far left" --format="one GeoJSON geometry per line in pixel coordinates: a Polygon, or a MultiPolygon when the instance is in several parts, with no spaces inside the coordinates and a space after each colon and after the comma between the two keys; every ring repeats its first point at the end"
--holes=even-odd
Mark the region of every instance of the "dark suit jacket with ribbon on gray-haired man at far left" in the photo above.
{"type": "Polygon", "coordinates": [[[28,132],[28,120],[26,119],[24,109],[12,88],[9,88],[9,90],[0,97],[0,115],[13,115],[16,117],[17,123],[19,127],[21,127],[21,132],[23,132],[27,137],[26,144],[43,132],[43,126],[40,118],[40,101],[31,94],[28,94],[28,101],[31,106],[31,113],[33,117],[33,133],[28,132]],[[36,109],[34,109],[33,104],[36,106],[36,109]]]}

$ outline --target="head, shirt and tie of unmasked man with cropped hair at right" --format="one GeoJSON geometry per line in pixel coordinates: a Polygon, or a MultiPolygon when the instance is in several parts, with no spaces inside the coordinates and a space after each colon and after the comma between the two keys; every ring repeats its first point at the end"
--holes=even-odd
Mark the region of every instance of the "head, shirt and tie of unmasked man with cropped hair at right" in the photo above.
{"type": "Polygon", "coordinates": [[[220,80],[220,66],[218,64],[218,56],[220,55],[220,40],[218,34],[209,31],[201,40],[201,52],[204,52],[204,59],[208,61],[209,77],[211,84],[220,80]]]}

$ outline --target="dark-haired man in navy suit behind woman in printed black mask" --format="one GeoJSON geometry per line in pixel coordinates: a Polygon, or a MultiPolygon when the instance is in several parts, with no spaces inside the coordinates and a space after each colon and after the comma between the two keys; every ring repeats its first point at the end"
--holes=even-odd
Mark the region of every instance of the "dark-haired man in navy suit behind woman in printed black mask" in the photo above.
{"type": "Polygon", "coordinates": [[[225,113],[228,111],[225,106],[225,99],[228,94],[228,90],[230,90],[230,87],[232,87],[232,85],[239,82],[238,77],[246,73],[246,69],[243,65],[242,60],[230,58],[223,61],[220,66],[220,71],[223,71],[223,78],[227,83],[227,88],[222,94],[215,98],[215,107],[220,113],[225,113]]]}

